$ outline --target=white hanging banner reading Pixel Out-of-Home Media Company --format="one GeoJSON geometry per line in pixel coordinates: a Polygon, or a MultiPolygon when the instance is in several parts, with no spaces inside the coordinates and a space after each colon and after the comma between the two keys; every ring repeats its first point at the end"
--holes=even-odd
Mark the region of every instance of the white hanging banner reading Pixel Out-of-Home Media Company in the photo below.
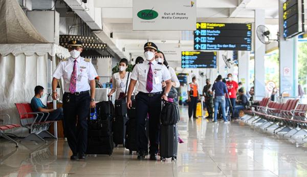
{"type": "Polygon", "coordinates": [[[133,30],[196,30],[196,0],[133,0],[133,30]]]}

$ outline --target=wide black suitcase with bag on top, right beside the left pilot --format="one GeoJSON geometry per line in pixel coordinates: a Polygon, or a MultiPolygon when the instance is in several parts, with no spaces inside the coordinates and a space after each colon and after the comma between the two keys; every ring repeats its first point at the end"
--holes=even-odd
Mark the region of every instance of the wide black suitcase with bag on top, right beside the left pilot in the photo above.
{"type": "MultiPolygon", "coordinates": [[[[91,112],[93,110],[91,109],[91,112]]],[[[107,154],[113,153],[112,120],[114,106],[112,101],[101,101],[96,104],[97,119],[89,120],[87,154],[107,154]]],[[[90,114],[91,115],[91,114],[90,114]]],[[[93,115],[93,114],[92,114],[93,115]]]]}

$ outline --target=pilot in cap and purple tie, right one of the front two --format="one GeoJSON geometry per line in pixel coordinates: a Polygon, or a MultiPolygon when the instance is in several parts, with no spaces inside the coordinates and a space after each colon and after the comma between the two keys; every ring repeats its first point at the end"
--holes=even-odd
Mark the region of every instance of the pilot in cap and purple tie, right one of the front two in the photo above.
{"type": "Polygon", "coordinates": [[[144,160],[148,154],[148,140],[146,137],[145,120],[149,116],[149,153],[150,160],[157,160],[160,132],[161,99],[167,100],[171,89],[171,78],[167,68],[155,60],[158,47],[155,43],[147,42],[144,45],[145,62],[137,64],[131,77],[127,95],[127,107],[131,107],[131,95],[136,82],[139,81],[138,95],[136,96],[137,112],[137,145],[138,159],[144,160]],[[162,81],[166,83],[162,93],[162,81]]]}

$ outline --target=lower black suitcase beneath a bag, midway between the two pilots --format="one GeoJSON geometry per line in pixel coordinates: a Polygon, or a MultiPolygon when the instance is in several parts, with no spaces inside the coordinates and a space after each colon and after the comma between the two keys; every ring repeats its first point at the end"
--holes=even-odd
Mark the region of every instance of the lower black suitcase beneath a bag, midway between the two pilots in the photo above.
{"type": "Polygon", "coordinates": [[[115,116],[113,119],[112,131],[115,146],[122,144],[125,147],[126,122],[127,118],[125,116],[115,116]]]}

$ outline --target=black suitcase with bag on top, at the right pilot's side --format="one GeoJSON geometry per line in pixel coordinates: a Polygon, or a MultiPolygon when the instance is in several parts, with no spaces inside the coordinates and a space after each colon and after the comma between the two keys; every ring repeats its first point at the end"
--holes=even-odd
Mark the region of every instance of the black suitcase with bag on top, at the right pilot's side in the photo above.
{"type": "Polygon", "coordinates": [[[160,157],[161,161],[177,160],[179,108],[175,103],[162,101],[160,115],[160,157]]]}

